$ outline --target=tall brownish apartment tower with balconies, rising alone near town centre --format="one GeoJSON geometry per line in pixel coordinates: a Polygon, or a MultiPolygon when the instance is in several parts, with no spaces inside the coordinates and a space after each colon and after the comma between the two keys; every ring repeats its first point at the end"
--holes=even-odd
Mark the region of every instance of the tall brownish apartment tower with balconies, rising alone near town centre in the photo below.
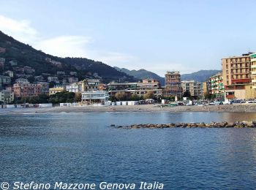
{"type": "Polygon", "coordinates": [[[181,74],[180,72],[167,72],[165,74],[165,90],[164,96],[178,96],[181,97],[181,74]]]}

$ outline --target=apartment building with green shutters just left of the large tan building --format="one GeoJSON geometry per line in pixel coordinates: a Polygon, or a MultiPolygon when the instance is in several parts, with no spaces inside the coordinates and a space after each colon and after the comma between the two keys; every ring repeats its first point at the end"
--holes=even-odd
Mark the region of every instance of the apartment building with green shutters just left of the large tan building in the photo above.
{"type": "Polygon", "coordinates": [[[222,72],[218,72],[216,75],[211,76],[209,78],[209,84],[209,93],[212,94],[214,98],[225,98],[225,86],[223,85],[222,72]]]}

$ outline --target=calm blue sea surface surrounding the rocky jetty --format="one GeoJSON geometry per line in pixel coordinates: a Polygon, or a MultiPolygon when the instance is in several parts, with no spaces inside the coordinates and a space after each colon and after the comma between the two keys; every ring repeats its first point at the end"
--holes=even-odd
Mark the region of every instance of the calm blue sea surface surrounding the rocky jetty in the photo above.
{"type": "Polygon", "coordinates": [[[255,189],[256,129],[110,127],[202,121],[256,121],[256,114],[0,115],[0,182],[159,181],[165,189],[255,189]]]}

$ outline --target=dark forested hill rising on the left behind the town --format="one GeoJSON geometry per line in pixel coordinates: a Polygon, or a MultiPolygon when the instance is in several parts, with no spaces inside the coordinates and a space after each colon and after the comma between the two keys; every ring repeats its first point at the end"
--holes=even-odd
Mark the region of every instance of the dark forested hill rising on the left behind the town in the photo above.
{"type": "Polygon", "coordinates": [[[45,74],[46,76],[59,77],[56,75],[57,72],[65,72],[66,77],[71,77],[69,76],[69,72],[77,72],[76,76],[79,80],[82,80],[85,77],[99,77],[102,78],[102,81],[105,83],[112,80],[137,80],[100,61],[94,61],[88,58],[60,58],[48,55],[40,50],[34,49],[30,45],[18,42],[1,31],[0,58],[5,58],[5,64],[0,70],[0,75],[3,75],[4,72],[10,70],[14,72],[15,77],[22,76],[20,74],[20,71],[23,72],[22,68],[24,66],[29,66],[31,69],[34,69],[34,72],[29,73],[29,75],[25,73],[24,77],[29,78],[31,82],[34,82],[33,80],[35,76],[42,76],[44,77],[44,80],[47,80],[45,74]],[[15,61],[17,64],[14,66],[10,64],[10,61],[15,61]]]}

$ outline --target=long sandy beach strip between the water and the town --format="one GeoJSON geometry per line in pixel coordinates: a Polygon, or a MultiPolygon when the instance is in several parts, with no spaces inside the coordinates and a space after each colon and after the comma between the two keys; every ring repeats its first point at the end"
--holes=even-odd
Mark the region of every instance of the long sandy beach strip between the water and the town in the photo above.
{"type": "Polygon", "coordinates": [[[127,106],[32,107],[0,109],[0,114],[91,112],[232,112],[256,113],[256,104],[161,107],[160,104],[127,106]]]}

